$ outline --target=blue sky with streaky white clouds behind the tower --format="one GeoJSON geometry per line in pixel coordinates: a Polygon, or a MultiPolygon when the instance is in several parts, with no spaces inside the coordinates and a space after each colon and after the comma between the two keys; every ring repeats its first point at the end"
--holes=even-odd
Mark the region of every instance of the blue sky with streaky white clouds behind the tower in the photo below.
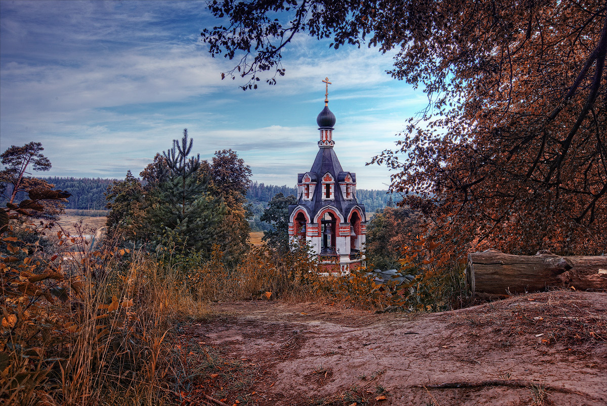
{"type": "Polygon", "coordinates": [[[0,1],[0,150],[41,142],[53,166],[35,176],[124,178],[188,128],[202,159],[231,148],[252,181],[293,186],[318,151],[328,77],[342,167],[386,189],[387,168],[365,164],[427,104],[385,73],[393,54],[296,37],[277,85],[243,92],[221,79],[236,62],[201,40],[220,22],[195,1],[0,1]]]}

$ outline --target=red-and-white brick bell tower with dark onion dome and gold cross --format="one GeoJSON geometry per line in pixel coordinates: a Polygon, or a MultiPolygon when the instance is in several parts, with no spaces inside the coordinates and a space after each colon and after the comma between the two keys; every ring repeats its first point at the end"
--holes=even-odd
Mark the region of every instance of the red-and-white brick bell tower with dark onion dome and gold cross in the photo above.
{"type": "Polygon", "coordinates": [[[344,171],[335,155],[335,115],[329,110],[328,78],[325,108],[316,118],[318,153],[309,171],[297,175],[297,204],[289,206],[291,244],[307,242],[323,273],[350,273],[364,264],[365,206],[356,201],[356,173],[344,171]]]}

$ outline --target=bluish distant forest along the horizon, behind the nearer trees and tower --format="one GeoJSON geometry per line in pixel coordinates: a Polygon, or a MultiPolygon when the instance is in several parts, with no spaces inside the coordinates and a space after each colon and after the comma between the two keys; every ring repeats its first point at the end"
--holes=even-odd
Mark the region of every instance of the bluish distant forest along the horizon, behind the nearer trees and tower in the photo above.
{"type": "MultiPolygon", "coordinates": [[[[107,190],[107,186],[111,185],[112,182],[120,179],[101,179],[101,178],[60,178],[58,176],[52,176],[45,179],[50,184],[55,185],[55,189],[66,190],[72,193],[66,204],[66,208],[73,208],[76,210],[104,210],[106,208],[106,196],[104,195],[107,190]]],[[[10,191],[8,191],[10,193],[10,191]]],[[[251,211],[253,211],[253,219],[251,219],[251,228],[254,231],[268,230],[270,225],[260,221],[260,216],[268,207],[268,202],[276,196],[282,193],[285,196],[297,195],[297,189],[295,187],[288,187],[287,185],[275,186],[266,185],[263,183],[253,182],[249,189],[246,191],[246,198],[251,204],[251,211]]],[[[390,197],[393,195],[388,194],[385,190],[365,190],[358,189],[356,191],[356,197],[359,203],[365,205],[367,213],[373,213],[378,208],[384,208],[388,205],[390,197]]],[[[25,196],[18,196],[18,198],[24,199],[25,196]]],[[[400,198],[393,196],[393,202],[396,203],[400,198]]]]}

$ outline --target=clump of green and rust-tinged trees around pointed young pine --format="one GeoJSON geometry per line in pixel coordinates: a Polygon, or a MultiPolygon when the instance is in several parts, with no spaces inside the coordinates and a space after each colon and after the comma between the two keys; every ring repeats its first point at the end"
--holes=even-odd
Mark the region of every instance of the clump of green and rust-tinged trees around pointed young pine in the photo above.
{"type": "Polygon", "coordinates": [[[236,151],[216,151],[209,164],[192,148],[185,129],[141,171],[144,184],[129,171],[124,181],[109,185],[108,230],[151,250],[174,245],[205,259],[216,245],[223,261],[235,265],[248,248],[251,170],[236,151]]]}

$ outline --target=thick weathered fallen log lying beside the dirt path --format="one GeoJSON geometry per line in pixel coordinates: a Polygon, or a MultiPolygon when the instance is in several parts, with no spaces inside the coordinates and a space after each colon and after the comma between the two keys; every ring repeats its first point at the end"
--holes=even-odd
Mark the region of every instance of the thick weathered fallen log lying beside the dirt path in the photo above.
{"type": "Polygon", "coordinates": [[[472,294],[497,297],[548,287],[607,290],[607,256],[534,256],[486,250],[468,255],[466,284],[472,294]]]}

